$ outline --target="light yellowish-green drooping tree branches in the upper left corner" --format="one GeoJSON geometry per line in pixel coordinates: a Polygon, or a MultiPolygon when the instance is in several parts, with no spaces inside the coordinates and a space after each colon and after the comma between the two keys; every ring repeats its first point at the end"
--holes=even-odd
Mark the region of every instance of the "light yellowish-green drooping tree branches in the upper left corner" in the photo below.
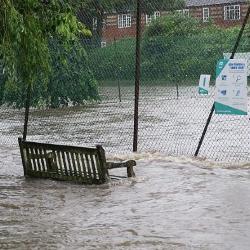
{"type": "Polygon", "coordinates": [[[17,75],[27,84],[49,73],[48,37],[74,39],[84,27],[68,1],[0,0],[0,55],[8,80],[17,75]]]}

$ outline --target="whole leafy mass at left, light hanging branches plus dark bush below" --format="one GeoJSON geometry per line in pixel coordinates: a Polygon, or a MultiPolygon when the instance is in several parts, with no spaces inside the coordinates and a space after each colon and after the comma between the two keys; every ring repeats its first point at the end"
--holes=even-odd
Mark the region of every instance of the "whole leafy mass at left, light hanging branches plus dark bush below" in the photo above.
{"type": "MultiPolygon", "coordinates": [[[[56,105],[48,95],[48,90],[53,88],[51,74],[58,76],[54,78],[58,86],[57,72],[65,70],[61,72],[61,75],[65,76],[66,67],[68,73],[65,79],[67,78],[68,84],[72,84],[75,77],[77,81],[74,83],[79,86],[74,88],[78,90],[78,97],[75,99],[72,97],[72,87],[67,86],[71,92],[64,92],[64,99],[70,98],[74,103],[81,103],[85,98],[94,97],[93,93],[97,94],[96,88],[95,91],[92,89],[95,86],[93,78],[90,73],[86,73],[89,72],[86,55],[83,49],[76,45],[79,34],[88,36],[91,34],[76,18],[75,11],[79,4],[79,0],[0,0],[0,58],[5,72],[5,79],[0,87],[1,103],[14,103],[18,107],[23,107],[26,89],[31,86],[33,105],[38,105],[41,100],[48,105],[56,105]],[[57,39],[62,43],[60,46],[57,44],[56,49],[51,49],[49,41],[57,39]],[[72,58],[66,56],[64,62],[80,67],[83,72],[81,75],[75,72],[69,73],[69,68],[73,69],[73,66],[60,65],[59,62],[55,65],[58,50],[66,54],[63,48],[69,48],[72,44],[74,45],[72,49],[77,50],[72,53],[76,56],[75,63],[72,63],[74,61],[72,58]],[[83,86],[87,87],[86,91],[90,91],[89,94],[83,91],[83,86]]],[[[69,50],[69,53],[71,52],[69,50]]],[[[65,81],[62,84],[66,85],[65,81]]],[[[55,94],[53,100],[58,98],[61,100],[61,96],[61,93],[55,94]]]]}

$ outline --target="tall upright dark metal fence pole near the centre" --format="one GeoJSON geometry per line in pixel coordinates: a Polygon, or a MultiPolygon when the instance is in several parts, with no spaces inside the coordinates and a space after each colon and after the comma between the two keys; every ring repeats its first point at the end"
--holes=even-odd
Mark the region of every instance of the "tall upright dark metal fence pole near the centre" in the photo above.
{"type": "Polygon", "coordinates": [[[138,146],[139,94],[141,78],[141,2],[142,0],[137,0],[133,152],[137,152],[138,146]]]}

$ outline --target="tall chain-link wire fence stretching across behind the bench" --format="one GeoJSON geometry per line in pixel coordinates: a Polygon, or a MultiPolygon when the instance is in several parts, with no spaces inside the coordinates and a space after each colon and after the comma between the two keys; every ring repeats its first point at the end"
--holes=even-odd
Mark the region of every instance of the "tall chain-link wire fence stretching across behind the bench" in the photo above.
{"type": "MultiPolygon", "coordinates": [[[[114,4],[101,6],[101,14],[98,12],[100,6],[95,4],[79,10],[79,19],[92,31],[92,37],[81,38],[84,60],[87,58],[83,66],[88,68],[88,74],[85,72],[83,78],[78,75],[83,71],[82,61],[72,51],[78,51],[79,47],[66,51],[71,67],[62,70],[56,65],[58,73],[54,71],[51,80],[57,85],[50,91],[57,92],[60,102],[48,108],[39,101],[36,105],[39,108],[31,109],[28,140],[103,144],[109,153],[132,151],[136,16],[131,11],[135,6],[131,8],[128,7],[130,2],[126,4],[122,8],[114,4]],[[79,102],[81,95],[74,85],[76,78],[80,79],[79,84],[89,88],[86,81],[90,81],[90,76],[97,83],[98,96],[79,102]],[[64,84],[60,85],[61,82],[64,84]],[[64,98],[63,93],[58,93],[62,88],[72,89],[71,95],[79,94],[80,97],[64,98]]],[[[239,22],[227,20],[220,25],[213,23],[212,16],[211,20],[205,20],[204,16],[202,19],[202,7],[184,6],[168,11],[169,6],[161,6],[147,3],[142,12],[138,151],[193,156],[214,103],[216,63],[227,56],[225,53],[232,52],[249,5],[244,3],[241,13],[237,8],[231,11],[236,18],[241,15],[239,22]],[[201,13],[197,17],[198,10],[201,13]],[[237,25],[225,27],[230,23],[237,25]],[[201,74],[211,75],[208,95],[198,93],[201,74]]],[[[224,8],[222,5],[217,7],[218,10],[224,8]]],[[[223,19],[224,16],[222,22],[223,19]]],[[[239,52],[249,60],[249,20],[239,52]]],[[[23,109],[3,104],[0,114],[0,147],[17,146],[17,137],[23,130],[23,109]]],[[[249,162],[249,118],[249,115],[213,115],[199,156],[234,164],[249,162]]]]}

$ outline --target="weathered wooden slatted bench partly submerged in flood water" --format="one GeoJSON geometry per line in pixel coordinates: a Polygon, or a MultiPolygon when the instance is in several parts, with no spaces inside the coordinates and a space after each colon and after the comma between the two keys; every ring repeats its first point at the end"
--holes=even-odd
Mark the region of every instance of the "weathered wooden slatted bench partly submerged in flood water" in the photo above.
{"type": "Polygon", "coordinates": [[[18,143],[25,176],[103,184],[110,180],[109,169],[123,167],[127,168],[128,177],[135,176],[135,161],[106,162],[105,151],[100,145],[75,147],[23,141],[22,138],[18,138],[18,143]]]}

